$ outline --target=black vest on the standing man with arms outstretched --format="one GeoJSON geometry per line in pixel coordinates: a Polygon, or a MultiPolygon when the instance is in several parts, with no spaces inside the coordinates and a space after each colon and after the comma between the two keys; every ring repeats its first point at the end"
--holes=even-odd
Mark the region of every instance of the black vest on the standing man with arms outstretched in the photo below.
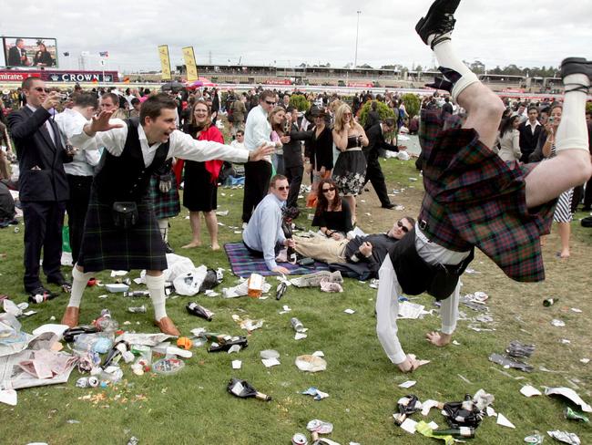
{"type": "Polygon", "coordinates": [[[154,160],[146,167],[138,139],[138,118],[126,119],[128,138],[121,156],[103,152],[99,171],[93,182],[101,202],[140,202],[148,194],[150,176],[161,168],[168,155],[168,141],[160,144],[154,160]]]}

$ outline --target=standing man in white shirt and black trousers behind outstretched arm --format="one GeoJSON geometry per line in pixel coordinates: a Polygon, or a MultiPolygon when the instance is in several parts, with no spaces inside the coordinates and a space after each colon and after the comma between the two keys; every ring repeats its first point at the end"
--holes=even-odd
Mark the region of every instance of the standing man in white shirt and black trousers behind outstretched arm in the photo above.
{"type": "MultiPolygon", "coordinates": [[[[254,150],[261,144],[276,148],[271,142],[271,124],[268,116],[275,107],[275,93],[270,89],[259,95],[259,106],[251,109],[245,124],[245,148],[254,150]]],[[[281,142],[278,141],[278,147],[281,142]]],[[[271,160],[258,160],[245,164],[245,192],[242,199],[242,225],[249,223],[250,214],[270,188],[271,160]]]]}

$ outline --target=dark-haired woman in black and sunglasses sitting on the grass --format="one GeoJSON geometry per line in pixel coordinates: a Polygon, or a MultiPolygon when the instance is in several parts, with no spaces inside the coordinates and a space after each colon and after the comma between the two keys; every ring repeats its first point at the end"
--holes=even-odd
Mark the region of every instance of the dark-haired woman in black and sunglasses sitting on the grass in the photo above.
{"type": "Polygon", "coordinates": [[[331,179],[319,182],[317,210],[311,225],[335,241],[354,237],[350,205],[342,200],[337,184],[331,179]]]}

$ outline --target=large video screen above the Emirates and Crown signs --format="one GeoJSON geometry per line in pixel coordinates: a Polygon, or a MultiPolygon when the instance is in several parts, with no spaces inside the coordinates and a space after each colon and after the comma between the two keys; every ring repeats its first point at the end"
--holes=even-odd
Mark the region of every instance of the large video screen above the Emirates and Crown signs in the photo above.
{"type": "Polygon", "coordinates": [[[6,67],[57,67],[57,42],[50,37],[2,37],[6,67]]]}

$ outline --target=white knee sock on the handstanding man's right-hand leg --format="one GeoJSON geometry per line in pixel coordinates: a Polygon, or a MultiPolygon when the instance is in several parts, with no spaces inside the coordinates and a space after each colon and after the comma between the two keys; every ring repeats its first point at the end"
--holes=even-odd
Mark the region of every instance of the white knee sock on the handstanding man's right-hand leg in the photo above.
{"type": "Polygon", "coordinates": [[[590,80],[586,74],[571,74],[563,79],[563,83],[566,86],[566,97],[563,102],[561,123],[555,137],[556,150],[588,150],[586,125],[587,94],[585,91],[570,91],[570,89],[577,88],[580,85],[588,87],[590,80]]]}

